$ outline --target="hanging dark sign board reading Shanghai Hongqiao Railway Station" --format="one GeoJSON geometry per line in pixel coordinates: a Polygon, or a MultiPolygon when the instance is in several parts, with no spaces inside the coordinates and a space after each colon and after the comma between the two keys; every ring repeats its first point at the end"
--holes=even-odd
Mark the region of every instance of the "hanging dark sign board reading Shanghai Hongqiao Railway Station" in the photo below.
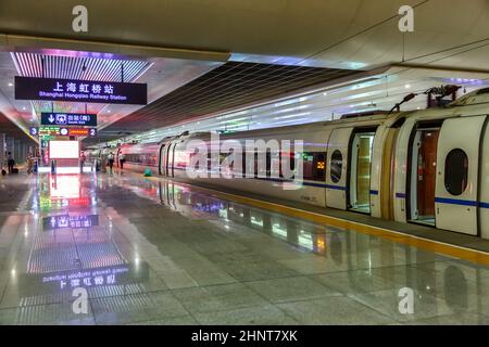
{"type": "Polygon", "coordinates": [[[146,83],[15,76],[15,99],[146,105],[148,88],[146,83]]]}

